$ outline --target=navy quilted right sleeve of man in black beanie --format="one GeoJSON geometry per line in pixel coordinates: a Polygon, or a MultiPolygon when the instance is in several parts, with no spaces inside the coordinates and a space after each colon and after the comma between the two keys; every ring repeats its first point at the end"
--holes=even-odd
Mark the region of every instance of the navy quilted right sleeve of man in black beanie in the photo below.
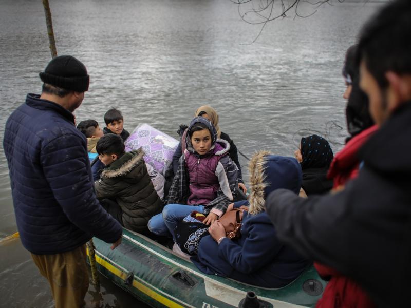
{"type": "Polygon", "coordinates": [[[40,160],[54,198],[67,218],[107,243],[116,242],[123,229],[96,198],[81,138],[66,134],[50,141],[43,147],[40,160]]]}

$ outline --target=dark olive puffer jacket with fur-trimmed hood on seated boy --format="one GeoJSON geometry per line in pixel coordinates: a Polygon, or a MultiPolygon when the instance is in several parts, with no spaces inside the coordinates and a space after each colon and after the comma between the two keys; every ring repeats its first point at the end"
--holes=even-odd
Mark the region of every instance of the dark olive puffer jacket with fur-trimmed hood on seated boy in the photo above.
{"type": "Polygon", "coordinates": [[[125,153],[96,182],[97,197],[115,199],[123,211],[124,226],[136,232],[145,232],[148,220],[162,210],[143,156],[141,148],[125,153]]]}

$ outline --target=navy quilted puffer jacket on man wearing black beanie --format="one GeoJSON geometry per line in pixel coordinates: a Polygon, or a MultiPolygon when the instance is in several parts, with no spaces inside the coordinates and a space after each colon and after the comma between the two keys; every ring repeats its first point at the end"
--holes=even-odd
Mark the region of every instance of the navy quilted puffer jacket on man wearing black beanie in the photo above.
{"type": "Polygon", "coordinates": [[[96,198],[87,140],[71,112],[28,94],[9,117],[3,147],[17,228],[33,254],[75,249],[92,236],[116,242],[121,225],[96,198]]]}

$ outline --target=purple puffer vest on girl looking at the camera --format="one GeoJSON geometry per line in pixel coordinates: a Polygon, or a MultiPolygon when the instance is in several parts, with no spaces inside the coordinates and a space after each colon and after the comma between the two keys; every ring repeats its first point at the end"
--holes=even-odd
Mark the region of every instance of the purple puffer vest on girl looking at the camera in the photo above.
{"type": "Polygon", "coordinates": [[[207,205],[217,198],[220,184],[218,177],[215,175],[215,170],[221,157],[227,155],[227,151],[222,153],[222,155],[216,155],[216,152],[221,152],[223,149],[219,143],[216,143],[210,154],[201,158],[188,150],[184,152],[185,164],[189,171],[190,179],[188,205],[207,205]]]}

